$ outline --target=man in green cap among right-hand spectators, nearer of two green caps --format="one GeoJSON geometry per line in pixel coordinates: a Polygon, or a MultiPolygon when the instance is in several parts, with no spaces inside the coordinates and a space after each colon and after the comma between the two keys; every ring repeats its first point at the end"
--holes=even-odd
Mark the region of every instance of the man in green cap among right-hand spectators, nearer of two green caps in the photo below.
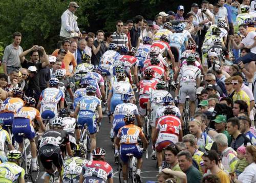
{"type": "Polygon", "coordinates": [[[218,115],[215,120],[212,120],[215,122],[214,126],[218,133],[224,133],[227,136],[228,141],[228,147],[231,145],[231,136],[226,130],[226,123],[227,123],[227,116],[225,115],[218,115]]]}

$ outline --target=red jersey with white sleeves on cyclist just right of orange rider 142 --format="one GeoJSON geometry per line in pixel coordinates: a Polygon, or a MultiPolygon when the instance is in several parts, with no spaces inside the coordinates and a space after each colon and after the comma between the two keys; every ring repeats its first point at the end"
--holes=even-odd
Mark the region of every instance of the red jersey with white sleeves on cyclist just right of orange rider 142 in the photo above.
{"type": "Polygon", "coordinates": [[[180,119],[172,115],[163,116],[156,123],[156,128],[159,129],[160,133],[179,135],[179,130],[182,129],[180,119]]]}

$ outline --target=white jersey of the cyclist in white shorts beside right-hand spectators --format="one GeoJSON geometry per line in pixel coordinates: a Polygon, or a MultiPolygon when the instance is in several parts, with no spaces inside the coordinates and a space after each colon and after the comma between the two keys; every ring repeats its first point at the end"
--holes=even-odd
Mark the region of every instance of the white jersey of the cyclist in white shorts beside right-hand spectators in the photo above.
{"type": "Polygon", "coordinates": [[[196,84],[197,78],[200,78],[201,70],[194,65],[184,65],[181,67],[179,78],[180,84],[196,84]]]}

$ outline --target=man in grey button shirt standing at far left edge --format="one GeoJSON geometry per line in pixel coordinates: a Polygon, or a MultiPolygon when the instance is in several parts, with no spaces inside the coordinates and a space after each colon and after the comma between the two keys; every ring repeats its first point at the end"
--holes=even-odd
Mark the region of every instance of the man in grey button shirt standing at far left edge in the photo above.
{"type": "Polygon", "coordinates": [[[7,75],[20,68],[19,54],[23,52],[19,45],[22,41],[22,33],[14,32],[12,38],[13,42],[5,48],[3,55],[4,73],[7,75]]]}

